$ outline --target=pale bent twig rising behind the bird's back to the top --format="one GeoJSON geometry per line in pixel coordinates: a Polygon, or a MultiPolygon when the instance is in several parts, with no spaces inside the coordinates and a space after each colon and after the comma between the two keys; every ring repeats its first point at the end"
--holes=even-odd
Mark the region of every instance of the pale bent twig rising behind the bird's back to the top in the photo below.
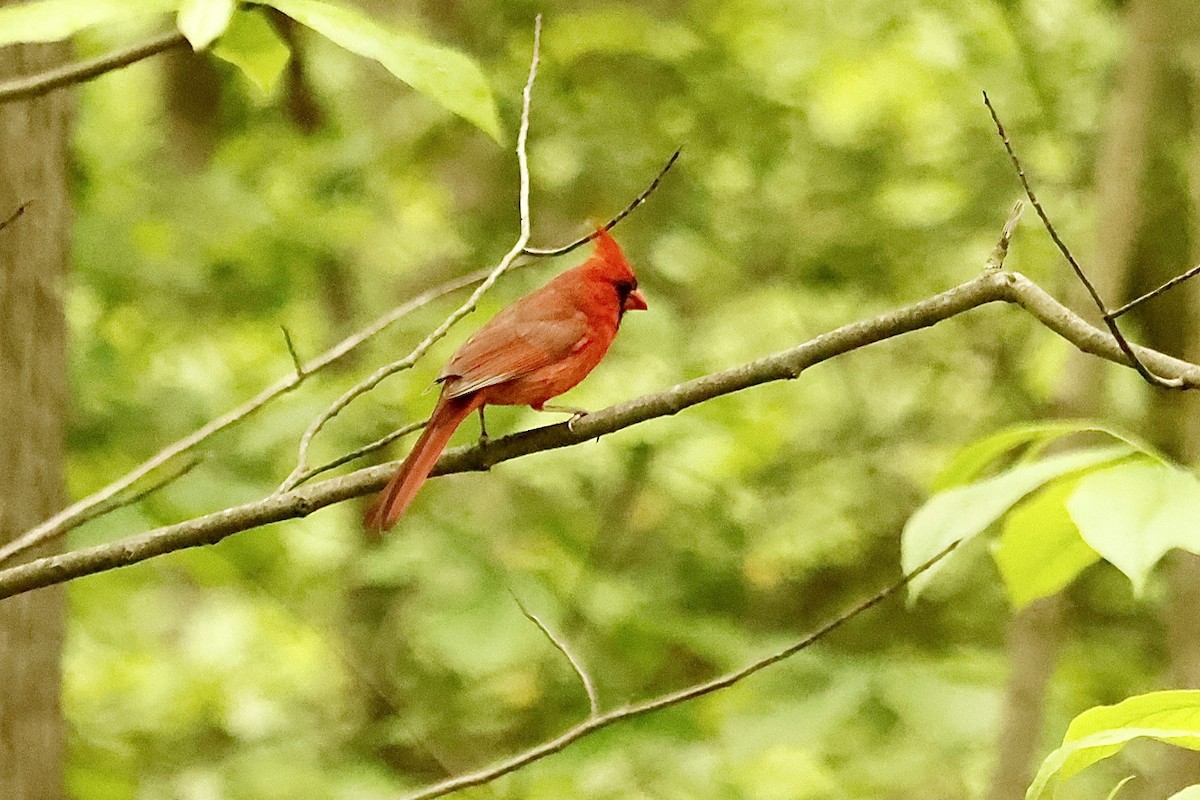
{"type": "Polygon", "coordinates": [[[533,104],[533,83],[538,77],[538,62],[539,53],[541,48],[541,14],[534,18],[533,28],[533,55],[529,59],[529,77],[526,80],[524,90],[521,92],[521,127],[517,131],[517,166],[521,174],[521,186],[518,192],[517,205],[520,210],[521,221],[521,234],[517,236],[516,243],[505,253],[500,263],[488,273],[479,287],[470,294],[467,302],[458,306],[449,317],[446,317],[440,325],[438,325],[433,332],[426,336],[416,348],[413,349],[407,356],[400,361],[394,361],[385,365],[373,373],[371,373],[366,379],[359,381],[346,392],[342,393],[332,404],[330,404],[316,420],[308,426],[300,437],[300,447],[296,456],[296,465],[292,473],[283,479],[280,485],[277,493],[288,492],[299,485],[300,476],[308,470],[308,450],[312,446],[312,440],[316,435],[325,427],[325,425],[332,420],[335,416],[342,413],[347,405],[354,402],[356,398],[361,397],[366,392],[371,391],[378,386],[385,378],[389,378],[397,372],[410,368],[415,365],[425,353],[433,347],[443,336],[449,332],[449,330],[463,317],[475,311],[479,305],[479,300],[484,294],[492,288],[492,285],[512,266],[514,260],[524,252],[526,246],[529,243],[530,236],[530,221],[529,221],[529,158],[526,154],[526,145],[529,139],[529,109],[533,104]]]}

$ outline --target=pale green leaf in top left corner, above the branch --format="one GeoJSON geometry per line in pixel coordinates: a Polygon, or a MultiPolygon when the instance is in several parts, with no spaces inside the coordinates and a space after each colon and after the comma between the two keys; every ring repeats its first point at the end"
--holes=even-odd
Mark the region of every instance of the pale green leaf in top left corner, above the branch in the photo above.
{"type": "Polygon", "coordinates": [[[179,0],[40,0],[0,8],[0,46],[58,42],[92,25],[174,11],[179,0]]]}

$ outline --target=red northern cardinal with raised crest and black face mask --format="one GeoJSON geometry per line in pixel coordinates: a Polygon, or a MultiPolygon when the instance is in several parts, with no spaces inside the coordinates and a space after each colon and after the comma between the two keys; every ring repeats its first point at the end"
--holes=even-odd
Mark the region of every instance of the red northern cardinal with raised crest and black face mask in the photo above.
{"type": "MultiPolygon", "coordinates": [[[[454,354],[438,375],[442,396],[425,432],[367,511],[362,524],[388,530],[416,497],[450,437],[485,405],[546,405],[600,363],[626,311],[646,297],[617,242],[596,231],[592,257],[498,313],[454,354]]],[[[484,432],[486,435],[486,431],[484,432]]]]}

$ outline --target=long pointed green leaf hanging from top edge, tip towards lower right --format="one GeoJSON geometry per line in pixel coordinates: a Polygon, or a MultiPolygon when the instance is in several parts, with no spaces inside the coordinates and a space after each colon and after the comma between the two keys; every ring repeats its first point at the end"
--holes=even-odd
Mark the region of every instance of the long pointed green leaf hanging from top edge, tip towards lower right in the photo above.
{"type": "Polygon", "coordinates": [[[253,0],[311,28],[338,47],[382,64],[416,91],[500,140],[500,122],[482,71],[462,53],[324,0],[253,0]]]}

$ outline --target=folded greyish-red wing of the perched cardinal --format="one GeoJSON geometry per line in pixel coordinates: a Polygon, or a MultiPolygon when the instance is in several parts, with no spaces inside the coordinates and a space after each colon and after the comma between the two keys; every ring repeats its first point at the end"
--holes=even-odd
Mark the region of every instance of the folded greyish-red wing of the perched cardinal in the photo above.
{"type": "Polygon", "coordinates": [[[509,306],[458,348],[438,377],[439,381],[454,379],[446,385],[448,397],[521,378],[583,347],[587,314],[540,294],[509,306]]]}

